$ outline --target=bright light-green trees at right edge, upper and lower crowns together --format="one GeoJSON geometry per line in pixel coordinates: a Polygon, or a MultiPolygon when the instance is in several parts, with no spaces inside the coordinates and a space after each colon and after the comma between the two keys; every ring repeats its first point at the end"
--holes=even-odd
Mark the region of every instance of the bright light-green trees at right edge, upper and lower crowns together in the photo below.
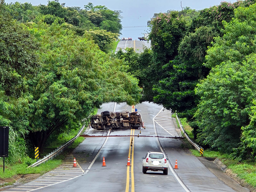
{"type": "Polygon", "coordinates": [[[223,21],[224,36],[216,38],[206,55],[211,73],[196,88],[201,97],[198,141],[223,151],[238,146],[241,127],[250,122],[255,98],[255,8],[256,4],[238,7],[230,23],[223,21]]]}

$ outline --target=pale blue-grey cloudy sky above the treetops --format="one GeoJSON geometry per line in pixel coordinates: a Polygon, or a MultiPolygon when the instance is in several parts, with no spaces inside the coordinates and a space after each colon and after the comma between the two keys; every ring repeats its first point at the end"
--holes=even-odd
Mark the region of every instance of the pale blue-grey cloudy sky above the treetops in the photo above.
{"type": "MultiPolygon", "coordinates": [[[[5,0],[5,3],[16,2],[5,0]]],[[[31,3],[32,5],[48,4],[47,0],[19,0],[21,3],[31,3]]],[[[120,37],[132,37],[132,40],[144,36],[148,32],[147,21],[153,17],[154,13],[166,12],[167,10],[181,11],[180,0],[59,0],[60,4],[65,3],[67,7],[81,7],[91,2],[94,6],[105,5],[110,10],[121,10],[122,35],[120,37]]],[[[213,5],[220,4],[221,0],[182,0],[182,7],[201,10],[213,5]]],[[[228,1],[231,3],[236,0],[228,1]]]]}

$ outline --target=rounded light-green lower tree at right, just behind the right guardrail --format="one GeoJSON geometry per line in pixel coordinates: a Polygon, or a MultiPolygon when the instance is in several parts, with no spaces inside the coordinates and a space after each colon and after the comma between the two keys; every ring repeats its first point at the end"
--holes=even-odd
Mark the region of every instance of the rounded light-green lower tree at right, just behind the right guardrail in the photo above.
{"type": "Polygon", "coordinates": [[[223,152],[240,142],[241,127],[249,124],[255,98],[255,55],[246,61],[226,61],[212,68],[196,88],[201,98],[196,111],[200,128],[197,141],[223,152]]]}

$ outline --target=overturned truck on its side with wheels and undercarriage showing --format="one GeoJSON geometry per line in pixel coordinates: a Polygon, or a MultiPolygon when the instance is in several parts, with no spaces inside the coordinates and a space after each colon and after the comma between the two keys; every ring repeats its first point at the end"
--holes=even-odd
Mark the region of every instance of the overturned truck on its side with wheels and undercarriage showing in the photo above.
{"type": "Polygon", "coordinates": [[[98,130],[106,129],[139,129],[143,123],[140,113],[103,111],[91,117],[91,127],[98,130]]]}

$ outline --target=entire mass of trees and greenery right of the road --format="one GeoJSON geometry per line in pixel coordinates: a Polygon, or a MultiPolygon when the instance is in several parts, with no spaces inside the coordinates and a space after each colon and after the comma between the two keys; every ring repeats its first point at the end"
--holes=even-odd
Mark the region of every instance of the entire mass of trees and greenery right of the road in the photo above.
{"type": "Polygon", "coordinates": [[[177,112],[197,144],[241,162],[256,161],[255,9],[244,0],[155,13],[151,49],[116,53],[139,79],[140,101],[177,112]]]}

